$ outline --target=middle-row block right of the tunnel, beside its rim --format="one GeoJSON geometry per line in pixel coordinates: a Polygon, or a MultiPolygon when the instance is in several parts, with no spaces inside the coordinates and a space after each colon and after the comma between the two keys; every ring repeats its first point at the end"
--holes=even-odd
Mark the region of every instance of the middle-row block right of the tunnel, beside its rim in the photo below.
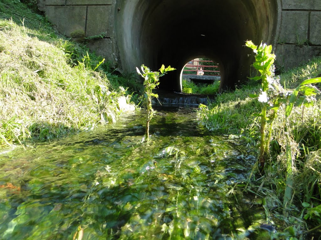
{"type": "Polygon", "coordinates": [[[308,40],[308,11],[282,11],[278,42],[303,44],[308,40]]]}

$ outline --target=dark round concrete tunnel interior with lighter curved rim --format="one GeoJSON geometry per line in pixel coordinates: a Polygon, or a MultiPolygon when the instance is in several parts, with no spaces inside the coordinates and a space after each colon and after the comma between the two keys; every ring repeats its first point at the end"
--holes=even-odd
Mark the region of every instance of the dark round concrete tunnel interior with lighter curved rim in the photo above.
{"type": "Polygon", "coordinates": [[[177,70],[159,88],[180,92],[182,68],[198,57],[219,64],[221,90],[247,81],[254,58],[245,41],[273,44],[279,7],[277,0],[118,0],[115,9],[119,67],[170,65],[177,70]]]}

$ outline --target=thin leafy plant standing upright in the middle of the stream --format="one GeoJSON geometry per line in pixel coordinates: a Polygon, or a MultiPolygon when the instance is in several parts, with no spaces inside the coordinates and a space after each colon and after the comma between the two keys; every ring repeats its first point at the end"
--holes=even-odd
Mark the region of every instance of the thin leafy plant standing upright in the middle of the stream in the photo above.
{"type": "Polygon", "coordinates": [[[158,71],[151,71],[148,67],[144,66],[144,64],[141,66],[142,72],[136,67],[137,73],[144,78],[144,95],[143,98],[145,99],[144,105],[147,110],[146,114],[146,133],[145,133],[145,139],[148,140],[149,138],[149,122],[151,121],[154,110],[152,108],[152,98],[158,98],[158,94],[153,93],[153,89],[155,89],[160,83],[159,78],[161,76],[164,76],[167,72],[176,70],[175,68],[171,68],[168,66],[165,68],[164,65],[161,66],[161,68],[158,71]]]}

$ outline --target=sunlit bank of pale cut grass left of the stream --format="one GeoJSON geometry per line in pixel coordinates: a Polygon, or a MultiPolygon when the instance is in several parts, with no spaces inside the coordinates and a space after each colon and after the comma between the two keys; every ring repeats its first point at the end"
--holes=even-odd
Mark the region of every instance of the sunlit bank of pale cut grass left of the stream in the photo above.
{"type": "Polygon", "coordinates": [[[18,0],[0,2],[0,58],[0,146],[115,121],[130,101],[128,78],[18,0]]]}

